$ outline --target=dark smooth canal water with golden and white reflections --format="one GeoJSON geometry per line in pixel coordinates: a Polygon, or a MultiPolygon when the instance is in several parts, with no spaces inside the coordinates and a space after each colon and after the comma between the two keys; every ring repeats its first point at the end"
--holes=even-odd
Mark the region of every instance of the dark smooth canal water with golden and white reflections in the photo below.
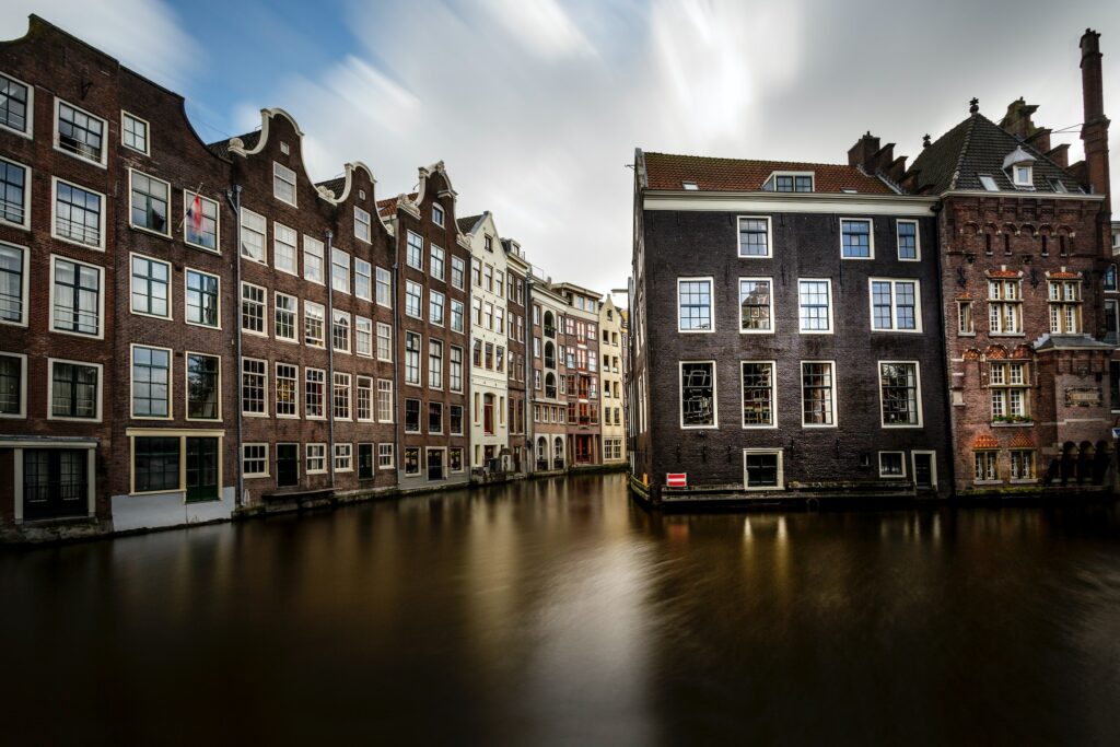
{"type": "Polygon", "coordinates": [[[1116,507],[539,480],[0,552],[0,741],[1120,744],[1116,507]]]}

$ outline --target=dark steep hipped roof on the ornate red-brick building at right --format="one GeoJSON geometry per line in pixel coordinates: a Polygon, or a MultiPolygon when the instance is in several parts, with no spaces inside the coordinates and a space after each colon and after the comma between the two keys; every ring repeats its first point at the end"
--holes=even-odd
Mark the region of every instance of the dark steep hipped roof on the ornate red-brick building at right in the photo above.
{"type": "Polygon", "coordinates": [[[973,112],[968,119],[937,138],[928,148],[923,149],[914,159],[906,176],[914,179],[913,192],[940,194],[949,189],[983,192],[984,187],[980,184],[981,174],[990,176],[1000,192],[1010,194],[1054,193],[1051,179],[1061,181],[1066,192],[1081,192],[1081,185],[1068,170],[980,112],[973,112]],[[1011,184],[1010,176],[1004,170],[1004,160],[1016,148],[1021,148],[1035,158],[1032,171],[1034,190],[1017,189],[1011,184]]]}

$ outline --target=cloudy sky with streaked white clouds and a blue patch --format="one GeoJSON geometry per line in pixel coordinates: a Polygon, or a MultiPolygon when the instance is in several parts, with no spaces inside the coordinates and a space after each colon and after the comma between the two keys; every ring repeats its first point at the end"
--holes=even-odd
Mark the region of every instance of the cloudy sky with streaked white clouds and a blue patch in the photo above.
{"type": "MultiPolygon", "coordinates": [[[[1098,0],[4,0],[183,94],[206,141],[279,106],[315,180],[363,161],[379,198],[442,160],[556,281],[625,288],[634,149],[846,162],[870,130],[912,158],[1024,96],[1082,155],[1077,41],[1101,32],[1120,120],[1120,2],[1098,0]]],[[[1114,112],[1114,113],[1113,113],[1114,112]]],[[[1111,128],[1120,187],[1120,124],[1111,128]]]]}

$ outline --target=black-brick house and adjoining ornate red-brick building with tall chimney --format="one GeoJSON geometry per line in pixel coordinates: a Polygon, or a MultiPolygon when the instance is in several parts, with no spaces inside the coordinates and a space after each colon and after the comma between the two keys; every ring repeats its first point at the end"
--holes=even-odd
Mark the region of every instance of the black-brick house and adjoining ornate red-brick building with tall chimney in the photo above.
{"type": "Polygon", "coordinates": [[[1112,489],[1120,298],[1096,32],[1081,52],[1072,166],[1023,100],[999,124],[973,100],[909,169],[870,133],[847,165],[637,150],[635,492],[1112,489]]]}

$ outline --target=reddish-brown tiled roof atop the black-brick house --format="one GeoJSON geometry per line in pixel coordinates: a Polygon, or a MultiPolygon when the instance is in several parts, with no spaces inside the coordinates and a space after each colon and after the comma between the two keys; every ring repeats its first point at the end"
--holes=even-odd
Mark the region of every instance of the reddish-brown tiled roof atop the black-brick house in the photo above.
{"type": "Polygon", "coordinates": [[[774,171],[812,171],[816,193],[855,189],[861,194],[893,195],[881,179],[868,176],[855,166],[794,161],[745,160],[708,156],[644,153],[650,189],[683,189],[691,181],[700,192],[762,192],[774,171]]]}

